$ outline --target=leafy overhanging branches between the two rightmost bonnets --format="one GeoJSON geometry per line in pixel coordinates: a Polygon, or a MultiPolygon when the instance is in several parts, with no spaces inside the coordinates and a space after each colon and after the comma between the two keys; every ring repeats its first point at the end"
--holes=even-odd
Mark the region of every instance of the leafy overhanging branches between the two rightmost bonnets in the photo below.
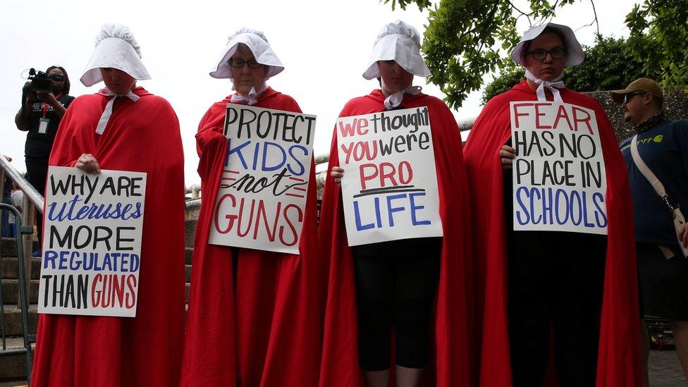
{"type": "Polygon", "coordinates": [[[484,74],[510,66],[503,50],[519,40],[517,18],[547,20],[558,6],[575,2],[531,0],[530,9],[522,11],[508,0],[441,0],[434,7],[429,0],[383,1],[391,2],[392,8],[410,4],[429,8],[423,42],[432,73],[428,80],[447,94],[446,102],[453,108],[460,107],[469,92],[480,89],[484,74]]]}

